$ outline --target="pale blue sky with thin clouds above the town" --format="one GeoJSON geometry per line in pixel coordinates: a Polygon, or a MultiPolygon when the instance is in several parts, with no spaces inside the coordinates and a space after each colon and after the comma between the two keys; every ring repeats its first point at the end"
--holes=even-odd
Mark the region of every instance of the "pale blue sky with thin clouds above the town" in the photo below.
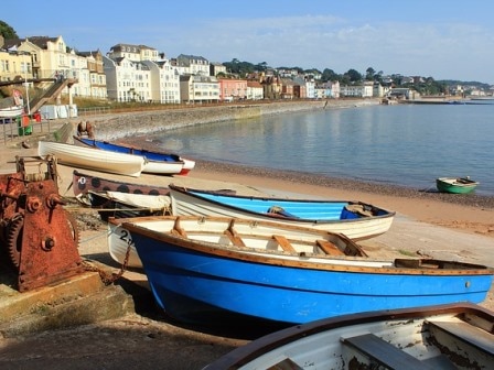
{"type": "Polygon", "coordinates": [[[62,35],[79,51],[118,43],[271,67],[368,67],[494,84],[494,1],[3,1],[20,37],[62,35]]]}

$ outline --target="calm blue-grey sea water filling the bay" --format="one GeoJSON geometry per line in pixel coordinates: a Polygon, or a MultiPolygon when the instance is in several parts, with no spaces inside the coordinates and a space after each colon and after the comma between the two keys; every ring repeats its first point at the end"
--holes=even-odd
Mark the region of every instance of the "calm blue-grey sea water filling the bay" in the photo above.
{"type": "Polygon", "coordinates": [[[494,100],[321,109],[167,132],[182,155],[419,189],[470,176],[494,196],[494,100]]]}

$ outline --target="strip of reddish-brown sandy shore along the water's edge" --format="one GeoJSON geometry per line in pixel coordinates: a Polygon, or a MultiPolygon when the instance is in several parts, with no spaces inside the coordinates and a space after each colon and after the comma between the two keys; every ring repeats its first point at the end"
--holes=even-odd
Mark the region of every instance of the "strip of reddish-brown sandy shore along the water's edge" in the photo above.
{"type": "Polygon", "coordinates": [[[420,192],[402,186],[208,161],[196,161],[189,177],[240,183],[267,193],[282,192],[308,198],[361,200],[421,222],[494,238],[494,197],[488,196],[420,192]]]}

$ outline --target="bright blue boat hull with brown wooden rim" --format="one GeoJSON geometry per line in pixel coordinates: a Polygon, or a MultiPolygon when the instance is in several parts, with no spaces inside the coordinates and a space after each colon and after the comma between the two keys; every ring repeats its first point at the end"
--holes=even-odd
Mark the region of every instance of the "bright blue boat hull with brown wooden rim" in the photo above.
{"type": "Polygon", "coordinates": [[[189,323],[239,315],[290,325],[358,313],[363,307],[480,303],[492,284],[492,271],[479,265],[445,262],[444,269],[438,268],[441,263],[431,269],[404,268],[389,266],[389,261],[356,262],[358,258],[324,261],[307,253],[254,253],[142,225],[122,226],[131,235],[158,304],[189,323]]]}

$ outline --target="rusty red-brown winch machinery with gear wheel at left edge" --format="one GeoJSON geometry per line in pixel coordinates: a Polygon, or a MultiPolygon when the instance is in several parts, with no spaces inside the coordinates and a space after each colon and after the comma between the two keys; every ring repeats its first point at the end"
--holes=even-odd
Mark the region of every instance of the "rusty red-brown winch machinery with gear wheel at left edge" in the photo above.
{"type": "Polygon", "coordinates": [[[76,221],[58,194],[56,160],[17,156],[15,163],[17,173],[0,174],[0,246],[7,266],[18,274],[18,290],[25,292],[85,269],[76,221]],[[32,162],[39,172],[28,174],[32,162]]]}

